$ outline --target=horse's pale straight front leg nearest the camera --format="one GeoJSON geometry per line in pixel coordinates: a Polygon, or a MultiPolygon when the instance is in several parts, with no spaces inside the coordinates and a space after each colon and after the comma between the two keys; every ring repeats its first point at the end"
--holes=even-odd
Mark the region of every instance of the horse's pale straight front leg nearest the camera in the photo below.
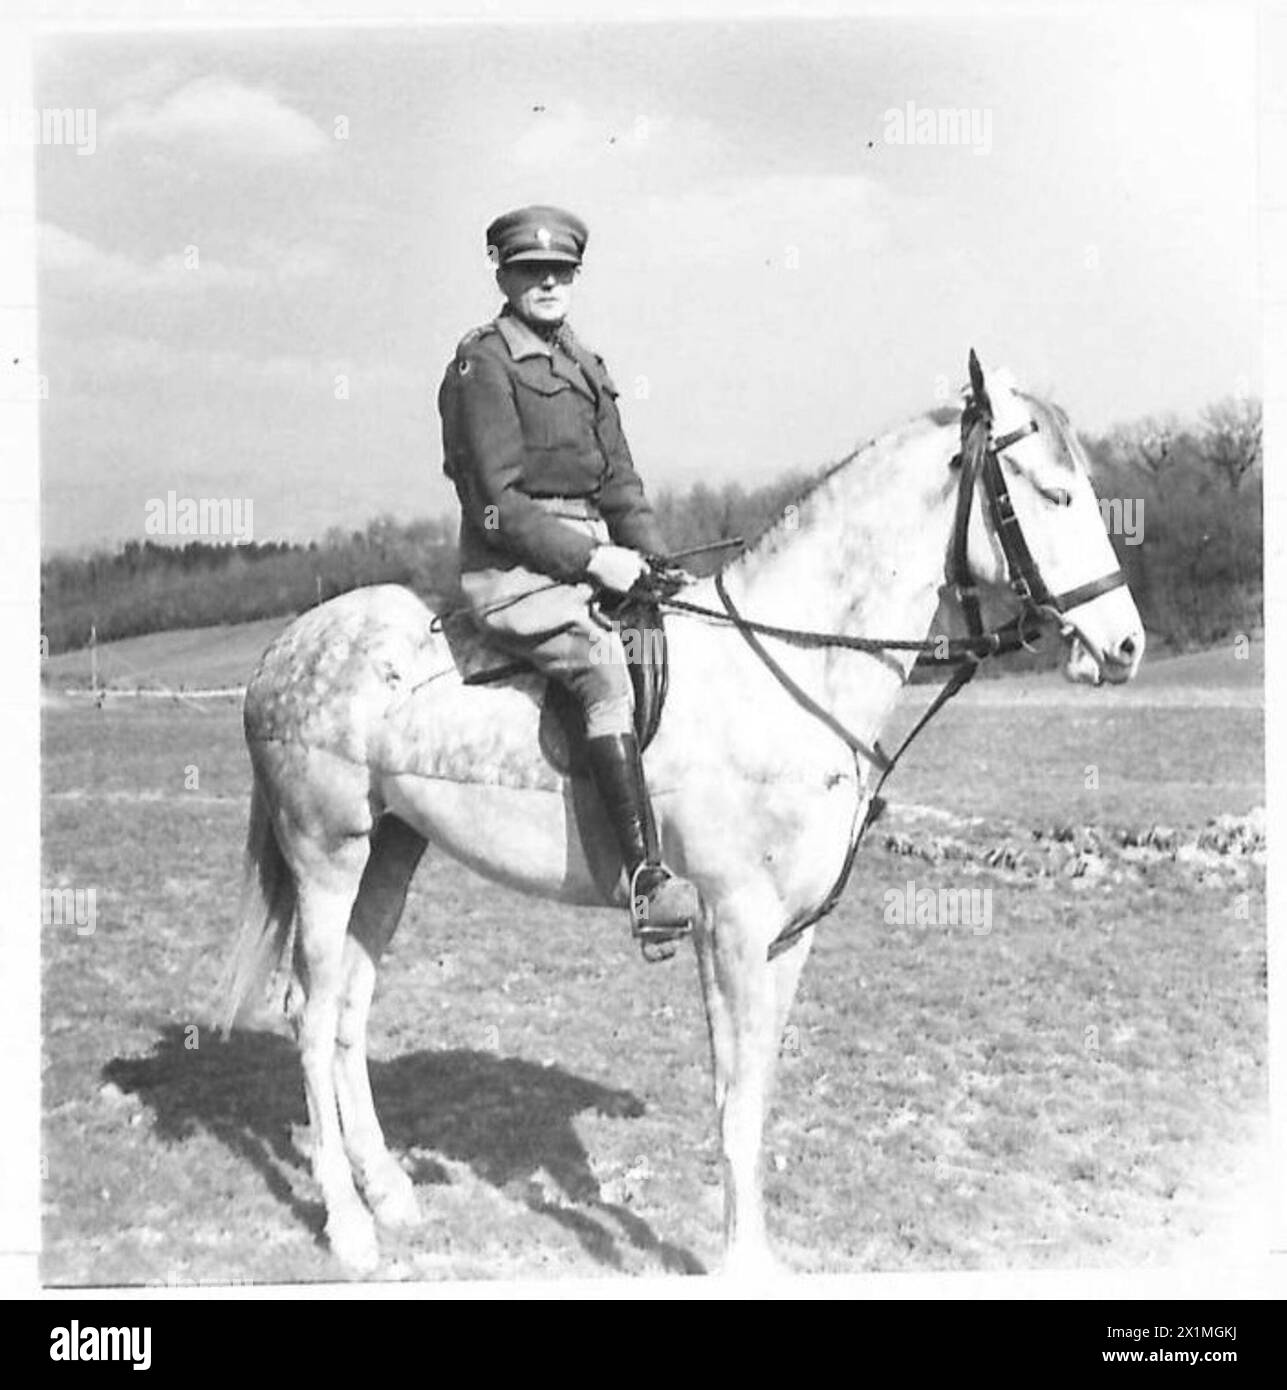
{"type": "Polygon", "coordinates": [[[714,905],[696,933],[723,1155],[724,1273],[732,1276],[774,1269],[760,1161],[778,1052],[778,970],[767,948],[780,920],[773,892],[746,888],[714,905]]]}

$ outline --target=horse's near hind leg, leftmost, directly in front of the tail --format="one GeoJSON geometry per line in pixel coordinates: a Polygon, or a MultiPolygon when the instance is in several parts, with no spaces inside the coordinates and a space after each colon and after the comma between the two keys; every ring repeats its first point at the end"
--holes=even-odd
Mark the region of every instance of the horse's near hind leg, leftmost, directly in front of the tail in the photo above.
{"type": "Polygon", "coordinates": [[[327,1207],[327,1240],[336,1258],[357,1272],[379,1262],[375,1223],[353,1186],[345,1152],[335,1088],[339,1001],[343,988],[349,916],[370,855],[366,835],[350,835],[322,849],[310,842],[284,845],[297,884],[297,955],[304,1001],[296,1040],[304,1072],[313,1176],[327,1207]]]}

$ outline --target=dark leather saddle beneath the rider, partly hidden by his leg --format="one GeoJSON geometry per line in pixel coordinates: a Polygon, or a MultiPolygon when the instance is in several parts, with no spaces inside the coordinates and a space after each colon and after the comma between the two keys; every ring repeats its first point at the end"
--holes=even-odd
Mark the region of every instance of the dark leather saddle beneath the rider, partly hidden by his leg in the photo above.
{"type": "MultiPolygon", "coordinates": [[[[596,600],[595,616],[605,627],[630,634],[624,646],[635,696],[635,737],[642,752],[660,727],[670,684],[662,607],[650,595],[631,592],[596,600]]],[[[466,685],[498,685],[516,676],[541,678],[525,662],[513,660],[507,652],[488,641],[467,613],[445,614],[441,626],[466,685]]],[[[581,706],[557,681],[545,681],[539,737],[541,752],[559,773],[564,777],[589,776],[581,706]]]]}

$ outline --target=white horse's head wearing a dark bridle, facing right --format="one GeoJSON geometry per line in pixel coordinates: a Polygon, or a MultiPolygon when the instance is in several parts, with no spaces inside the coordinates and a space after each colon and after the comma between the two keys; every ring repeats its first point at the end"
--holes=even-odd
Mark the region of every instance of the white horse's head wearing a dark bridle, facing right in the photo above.
{"type": "Polygon", "coordinates": [[[956,528],[940,623],[967,637],[1017,623],[1026,641],[1054,623],[1069,680],[1131,680],[1144,627],[1063,410],[1022,392],[1008,373],[984,381],[972,350],[953,468],[956,528]]]}

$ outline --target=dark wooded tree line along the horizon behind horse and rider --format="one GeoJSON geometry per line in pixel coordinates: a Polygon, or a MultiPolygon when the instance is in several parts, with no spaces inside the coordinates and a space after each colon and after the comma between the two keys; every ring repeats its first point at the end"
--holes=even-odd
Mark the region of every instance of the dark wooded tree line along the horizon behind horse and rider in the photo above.
{"type": "MultiPolygon", "coordinates": [[[[1259,402],[1230,399],[1194,420],[1151,417],[1080,436],[1105,510],[1133,523],[1112,539],[1154,645],[1186,651],[1259,631],[1261,431],[1259,402]]],[[[757,488],[663,489],[655,499],[662,531],[671,550],[735,535],[753,539],[821,471],[798,470],[757,488]]],[[[709,573],[720,560],[714,553],[691,569],[709,573]]],[[[435,600],[452,592],[454,564],[449,517],[384,516],[361,530],[332,528],[307,545],[129,541],[114,553],[42,563],[43,632],[56,653],[85,646],[92,630],[103,642],[285,617],[367,584],[404,584],[435,600]]],[[[1045,653],[1017,664],[1052,659],[1045,653]]]]}

